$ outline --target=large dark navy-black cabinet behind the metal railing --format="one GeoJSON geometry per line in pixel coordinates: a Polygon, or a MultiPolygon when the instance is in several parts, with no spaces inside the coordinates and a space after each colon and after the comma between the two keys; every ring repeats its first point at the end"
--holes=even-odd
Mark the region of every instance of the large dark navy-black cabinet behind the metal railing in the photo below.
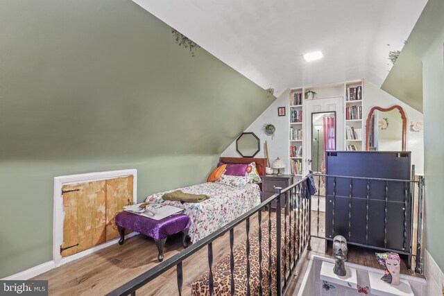
{"type": "Polygon", "coordinates": [[[327,151],[325,234],[347,241],[410,252],[411,153],[327,151]],[[396,182],[389,180],[406,180],[396,182]],[[367,237],[368,235],[368,237],[367,237]]]}

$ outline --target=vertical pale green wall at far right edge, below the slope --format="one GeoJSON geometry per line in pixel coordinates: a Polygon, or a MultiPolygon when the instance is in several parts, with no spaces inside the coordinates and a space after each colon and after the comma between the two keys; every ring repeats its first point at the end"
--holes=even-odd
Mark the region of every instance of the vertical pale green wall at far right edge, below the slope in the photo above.
{"type": "MultiPolygon", "coordinates": [[[[442,6],[444,8],[444,6],[442,6]]],[[[444,13],[444,10],[441,10],[444,13]]],[[[442,17],[442,15],[441,15],[442,17]]],[[[443,31],[422,58],[426,245],[444,270],[444,22],[443,31]]]]}

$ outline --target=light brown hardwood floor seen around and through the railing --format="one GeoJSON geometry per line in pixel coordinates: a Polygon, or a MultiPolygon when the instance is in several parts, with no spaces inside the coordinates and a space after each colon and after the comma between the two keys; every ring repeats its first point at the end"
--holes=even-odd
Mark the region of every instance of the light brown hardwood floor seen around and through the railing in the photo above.
{"type": "MultiPolygon", "coordinates": [[[[316,234],[317,212],[312,211],[311,214],[311,229],[312,233],[316,234]]],[[[268,219],[268,214],[263,212],[262,221],[265,219],[268,219]]],[[[319,216],[319,236],[325,234],[324,219],[325,214],[321,212],[319,216]]],[[[250,232],[253,232],[257,225],[257,216],[253,216],[250,219],[250,232]]],[[[234,229],[234,244],[237,245],[245,238],[245,223],[242,223],[234,229]]],[[[183,250],[182,236],[180,234],[172,236],[165,245],[164,260],[181,250],[183,250]]],[[[287,295],[297,295],[311,254],[331,257],[330,253],[325,254],[324,251],[325,241],[319,238],[311,238],[311,251],[305,252],[300,259],[296,276],[293,277],[293,281],[287,289],[287,295]]],[[[214,264],[229,252],[230,243],[227,233],[213,243],[214,264]]],[[[348,262],[378,268],[372,250],[350,246],[348,262]]],[[[105,295],[157,264],[157,247],[153,239],[138,235],[129,238],[123,245],[116,243],[82,259],[45,272],[34,279],[49,281],[49,295],[105,295]]],[[[207,270],[207,248],[204,247],[183,263],[182,295],[190,295],[191,283],[207,270]]],[[[409,275],[413,274],[413,272],[407,270],[405,264],[402,265],[401,272],[409,275]]],[[[171,268],[164,272],[162,276],[137,290],[137,295],[178,295],[176,268],[171,268]]]]}

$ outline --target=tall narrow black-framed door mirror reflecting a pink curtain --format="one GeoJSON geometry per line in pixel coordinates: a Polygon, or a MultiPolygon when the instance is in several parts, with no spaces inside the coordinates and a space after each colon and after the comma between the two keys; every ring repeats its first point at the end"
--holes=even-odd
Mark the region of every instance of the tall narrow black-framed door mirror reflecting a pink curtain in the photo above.
{"type": "Polygon", "coordinates": [[[311,113],[311,170],[325,172],[325,151],[336,150],[336,112],[311,113]]]}

